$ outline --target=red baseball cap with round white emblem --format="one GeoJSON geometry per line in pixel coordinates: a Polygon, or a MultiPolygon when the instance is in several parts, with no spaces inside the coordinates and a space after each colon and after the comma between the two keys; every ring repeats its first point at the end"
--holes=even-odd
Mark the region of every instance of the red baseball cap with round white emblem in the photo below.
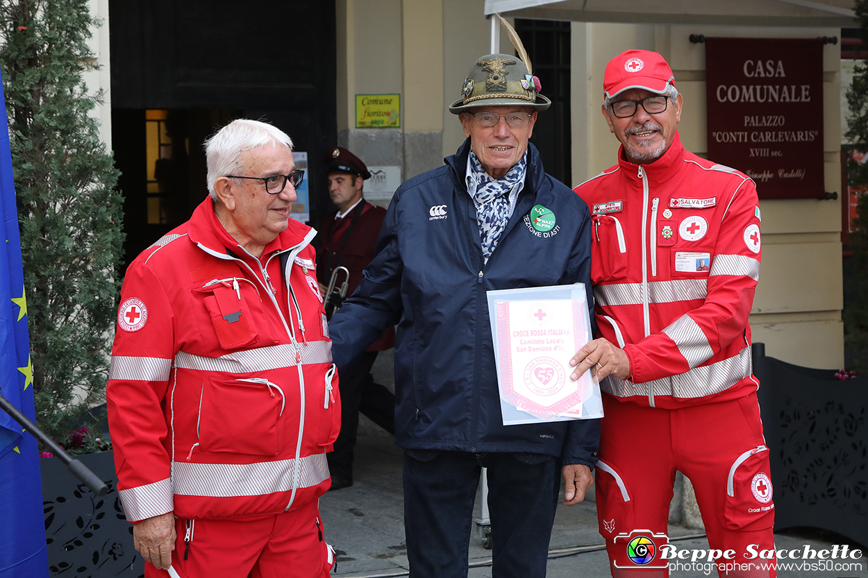
{"type": "Polygon", "coordinates": [[[625,50],[608,61],[602,89],[612,98],[629,89],[663,94],[670,84],[675,85],[675,76],[663,56],[650,50],[625,50]]]}

